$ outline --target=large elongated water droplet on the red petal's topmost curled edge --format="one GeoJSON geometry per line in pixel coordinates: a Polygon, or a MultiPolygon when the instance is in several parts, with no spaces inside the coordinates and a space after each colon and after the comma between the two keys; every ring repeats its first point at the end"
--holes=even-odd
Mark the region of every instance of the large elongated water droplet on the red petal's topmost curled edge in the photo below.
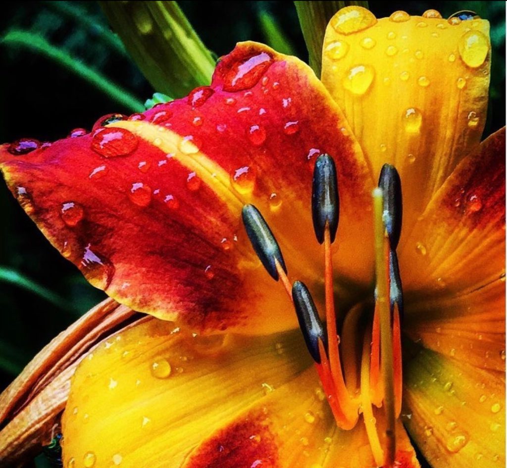
{"type": "Polygon", "coordinates": [[[242,91],[255,86],[273,63],[267,52],[243,58],[221,70],[224,91],[242,91]]]}

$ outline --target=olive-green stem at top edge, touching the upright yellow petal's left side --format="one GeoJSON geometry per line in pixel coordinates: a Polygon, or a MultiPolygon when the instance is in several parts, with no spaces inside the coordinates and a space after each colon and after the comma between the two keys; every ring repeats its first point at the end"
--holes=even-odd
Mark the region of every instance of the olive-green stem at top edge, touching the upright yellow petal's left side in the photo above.
{"type": "Polygon", "coordinates": [[[294,2],[298,12],[299,24],[303,31],[309,63],[317,77],[322,64],[322,43],[325,28],[340,8],[358,5],[368,8],[368,2],[294,2]]]}

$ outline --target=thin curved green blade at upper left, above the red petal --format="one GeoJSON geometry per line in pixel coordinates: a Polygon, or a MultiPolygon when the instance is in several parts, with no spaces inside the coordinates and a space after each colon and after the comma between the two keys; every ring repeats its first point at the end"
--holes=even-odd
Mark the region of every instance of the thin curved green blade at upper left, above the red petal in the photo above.
{"type": "Polygon", "coordinates": [[[132,112],[142,112],[144,110],[142,101],[125,89],[111,83],[111,81],[107,80],[107,78],[88,65],[71,57],[67,52],[52,46],[40,35],[13,29],[3,37],[2,43],[6,45],[23,46],[33,52],[40,53],[93,84],[104,94],[110,96],[113,100],[124,105],[132,112]]]}

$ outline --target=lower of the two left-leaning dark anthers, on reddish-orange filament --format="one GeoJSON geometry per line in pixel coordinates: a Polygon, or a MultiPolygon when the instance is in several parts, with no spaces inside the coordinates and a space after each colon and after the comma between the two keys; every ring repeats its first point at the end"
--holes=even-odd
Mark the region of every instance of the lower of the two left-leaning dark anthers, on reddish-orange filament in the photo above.
{"type": "Polygon", "coordinates": [[[324,327],[320,321],[313,298],[306,285],[301,281],[294,282],[292,286],[292,298],[308,351],[313,360],[317,364],[320,364],[322,356],[319,351],[319,341],[322,341],[324,349],[327,348],[327,342],[324,327]]]}

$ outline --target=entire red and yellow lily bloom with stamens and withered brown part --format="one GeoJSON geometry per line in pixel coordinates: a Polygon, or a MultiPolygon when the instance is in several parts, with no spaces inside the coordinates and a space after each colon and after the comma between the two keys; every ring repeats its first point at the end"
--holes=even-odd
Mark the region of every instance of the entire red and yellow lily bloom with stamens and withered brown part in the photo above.
{"type": "Polygon", "coordinates": [[[419,466],[412,444],[504,463],[488,29],[346,7],[321,81],[240,43],[185,98],[0,147],[25,211],[114,299],[2,395],[5,459],[64,409],[67,468],[419,466]]]}

